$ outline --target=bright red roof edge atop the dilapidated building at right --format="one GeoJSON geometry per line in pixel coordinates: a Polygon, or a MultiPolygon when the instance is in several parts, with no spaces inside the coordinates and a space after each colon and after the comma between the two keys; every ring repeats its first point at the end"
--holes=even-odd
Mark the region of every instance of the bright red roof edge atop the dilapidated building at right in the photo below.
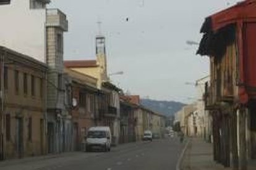
{"type": "Polygon", "coordinates": [[[247,0],[239,2],[236,6],[211,15],[210,18],[213,31],[220,30],[239,20],[244,22],[256,22],[256,1],[247,0]]]}

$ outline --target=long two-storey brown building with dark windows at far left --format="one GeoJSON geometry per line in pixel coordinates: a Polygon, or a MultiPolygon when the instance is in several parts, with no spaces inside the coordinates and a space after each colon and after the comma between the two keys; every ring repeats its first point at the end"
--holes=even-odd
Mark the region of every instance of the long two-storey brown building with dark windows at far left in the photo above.
{"type": "Polygon", "coordinates": [[[45,63],[0,47],[0,158],[46,153],[45,63]]]}

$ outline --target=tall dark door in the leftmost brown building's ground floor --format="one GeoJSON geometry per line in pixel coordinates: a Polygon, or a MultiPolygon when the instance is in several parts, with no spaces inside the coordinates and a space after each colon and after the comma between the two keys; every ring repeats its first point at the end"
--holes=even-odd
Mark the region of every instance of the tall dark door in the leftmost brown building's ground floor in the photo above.
{"type": "Polygon", "coordinates": [[[16,152],[19,158],[23,156],[23,122],[22,118],[16,119],[16,152]]]}

